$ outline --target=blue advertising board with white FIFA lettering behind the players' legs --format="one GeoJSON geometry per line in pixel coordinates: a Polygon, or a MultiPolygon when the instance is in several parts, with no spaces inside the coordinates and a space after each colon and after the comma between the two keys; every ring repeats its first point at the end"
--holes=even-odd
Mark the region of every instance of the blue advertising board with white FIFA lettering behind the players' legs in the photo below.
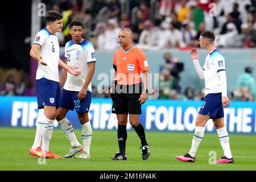
{"type": "MultiPolygon", "coordinates": [[[[193,131],[201,101],[147,100],[142,105],[140,122],[146,130],[152,131],[193,131]]],[[[89,119],[93,129],[117,129],[117,117],[111,113],[112,100],[93,98],[89,119]]],[[[232,101],[225,111],[225,125],[229,133],[255,134],[255,102],[232,101]]],[[[36,119],[43,114],[37,109],[36,97],[0,97],[0,127],[35,127],[36,119]]],[[[67,118],[73,127],[81,127],[75,111],[69,111],[67,118]]],[[[55,127],[58,126],[55,121],[55,127]]],[[[127,125],[131,129],[131,125],[127,125]]],[[[216,132],[210,119],[205,128],[216,132]]]]}

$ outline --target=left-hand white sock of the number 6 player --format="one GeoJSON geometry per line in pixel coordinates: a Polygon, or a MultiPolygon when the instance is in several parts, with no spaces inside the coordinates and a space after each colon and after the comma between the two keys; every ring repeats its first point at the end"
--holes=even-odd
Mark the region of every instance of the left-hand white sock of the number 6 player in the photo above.
{"type": "Polygon", "coordinates": [[[41,146],[41,141],[44,135],[46,134],[46,130],[48,129],[49,122],[46,119],[46,116],[43,114],[42,116],[38,117],[38,121],[36,123],[36,135],[34,144],[32,149],[35,150],[36,148],[41,146]]]}

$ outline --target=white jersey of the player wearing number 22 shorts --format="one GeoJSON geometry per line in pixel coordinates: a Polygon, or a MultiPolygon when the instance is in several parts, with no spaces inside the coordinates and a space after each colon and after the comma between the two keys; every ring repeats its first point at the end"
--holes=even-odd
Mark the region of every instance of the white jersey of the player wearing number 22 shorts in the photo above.
{"type": "MultiPolygon", "coordinates": [[[[64,84],[64,89],[69,91],[79,92],[84,85],[86,74],[88,72],[88,63],[96,62],[95,50],[88,40],[83,40],[80,44],[73,44],[73,40],[65,45],[65,58],[69,66],[78,67],[81,75],[73,76],[70,73],[67,75],[67,80],[64,84]]],[[[87,90],[92,92],[91,83],[87,90]]]]}

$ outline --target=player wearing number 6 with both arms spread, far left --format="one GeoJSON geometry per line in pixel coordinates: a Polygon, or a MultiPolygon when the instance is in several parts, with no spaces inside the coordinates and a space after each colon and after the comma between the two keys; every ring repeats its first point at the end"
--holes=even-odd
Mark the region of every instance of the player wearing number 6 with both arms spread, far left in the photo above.
{"type": "Polygon", "coordinates": [[[60,32],[63,27],[62,15],[55,10],[47,11],[46,22],[47,27],[36,34],[30,51],[30,56],[38,61],[36,92],[38,109],[44,109],[44,114],[38,118],[34,144],[29,153],[38,157],[46,156],[46,158],[61,159],[60,156],[49,151],[53,121],[56,118],[60,100],[58,65],[72,75],[80,75],[81,72],[60,60],[59,42],[55,33],[60,32]]]}

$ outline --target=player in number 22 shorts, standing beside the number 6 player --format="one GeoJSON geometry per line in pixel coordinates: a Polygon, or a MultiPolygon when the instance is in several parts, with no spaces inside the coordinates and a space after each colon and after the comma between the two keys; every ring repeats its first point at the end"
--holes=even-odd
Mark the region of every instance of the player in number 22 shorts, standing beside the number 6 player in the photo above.
{"type": "Polygon", "coordinates": [[[71,142],[71,148],[64,158],[72,158],[75,154],[82,151],[75,158],[90,158],[90,142],[92,139],[92,126],[90,125],[88,111],[91,102],[92,80],[96,56],[93,45],[82,38],[82,23],[73,21],[69,25],[69,34],[72,40],[65,45],[65,63],[74,67],[79,67],[82,72],[79,76],[73,76],[63,70],[60,79],[60,86],[64,85],[60,96],[60,108],[57,110],[57,121],[61,129],[71,142]],[[77,140],[71,123],[66,118],[69,110],[76,110],[77,117],[82,125],[82,143],[77,140]]]}

